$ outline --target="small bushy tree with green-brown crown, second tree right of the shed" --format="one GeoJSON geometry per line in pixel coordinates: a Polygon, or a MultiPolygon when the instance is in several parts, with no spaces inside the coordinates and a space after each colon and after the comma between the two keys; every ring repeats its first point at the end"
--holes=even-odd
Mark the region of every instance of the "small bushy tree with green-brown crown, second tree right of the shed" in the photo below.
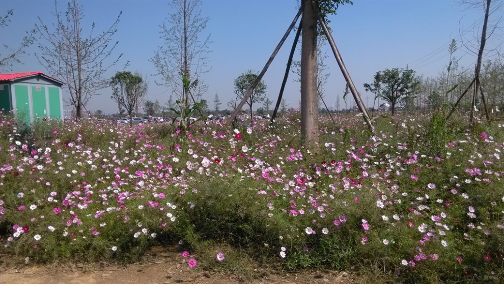
{"type": "Polygon", "coordinates": [[[120,71],[110,79],[110,85],[112,86],[113,96],[122,96],[120,101],[128,116],[132,117],[134,111],[137,114],[142,99],[147,95],[147,82],[139,74],[120,71]]]}

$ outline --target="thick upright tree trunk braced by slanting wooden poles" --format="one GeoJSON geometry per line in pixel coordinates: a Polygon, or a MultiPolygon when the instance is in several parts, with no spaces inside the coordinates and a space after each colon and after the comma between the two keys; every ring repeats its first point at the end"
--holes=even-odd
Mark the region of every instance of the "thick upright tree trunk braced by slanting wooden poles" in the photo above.
{"type": "Polygon", "coordinates": [[[301,42],[301,135],[303,145],[316,148],[319,142],[317,100],[317,16],[310,0],[303,0],[301,42]]]}

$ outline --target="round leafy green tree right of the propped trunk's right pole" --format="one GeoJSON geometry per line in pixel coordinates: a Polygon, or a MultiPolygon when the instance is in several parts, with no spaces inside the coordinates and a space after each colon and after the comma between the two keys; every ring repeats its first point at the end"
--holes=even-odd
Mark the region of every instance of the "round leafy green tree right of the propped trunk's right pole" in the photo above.
{"type": "Polygon", "coordinates": [[[396,105],[417,92],[419,79],[411,69],[385,69],[376,72],[373,84],[365,83],[364,88],[389,102],[394,115],[396,105]]]}

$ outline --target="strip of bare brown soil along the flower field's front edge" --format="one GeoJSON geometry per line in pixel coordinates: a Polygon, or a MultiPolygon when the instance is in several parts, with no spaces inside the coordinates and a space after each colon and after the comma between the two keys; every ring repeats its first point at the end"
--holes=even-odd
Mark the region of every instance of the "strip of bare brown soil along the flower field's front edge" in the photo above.
{"type": "Polygon", "coordinates": [[[251,267],[249,276],[190,269],[180,258],[180,253],[170,247],[154,247],[140,263],[120,265],[109,263],[51,265],[25,264],[5,254],[0,254],[1,284],[123,284],[123,283],[359,283],[347,272],[331,270],[279,271],[271,267],[251,267]]]}

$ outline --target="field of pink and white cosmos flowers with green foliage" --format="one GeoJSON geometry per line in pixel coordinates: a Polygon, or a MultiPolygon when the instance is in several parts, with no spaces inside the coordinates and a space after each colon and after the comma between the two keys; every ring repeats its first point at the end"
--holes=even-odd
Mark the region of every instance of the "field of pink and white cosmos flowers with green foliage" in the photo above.
{"type": "MultiPolygon", "coordinates": [[[[355,271],[366,282],[504,281],[504,127],[435,115],[253,128],[0,117],[2,249],[131,262],[178,245],[194,269],[355,271]]],[[[501,122],[502,123],[502,122],[501,122]]]]}

